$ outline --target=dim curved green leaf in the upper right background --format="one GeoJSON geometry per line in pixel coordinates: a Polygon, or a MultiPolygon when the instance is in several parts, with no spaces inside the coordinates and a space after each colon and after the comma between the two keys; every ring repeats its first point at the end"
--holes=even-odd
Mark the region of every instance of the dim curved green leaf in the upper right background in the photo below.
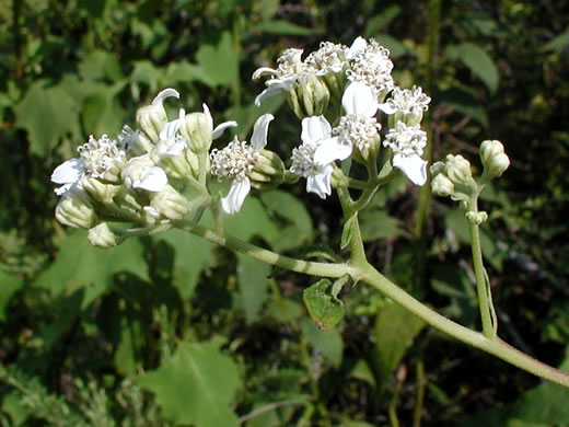
{"type": "Polygon", "coordinates": [[[445,54],[455,60],[463,62],[474,74],[476,74],[491,93],[498,89],[498,68],[492,59],[480,47],[472,43],[450,45],[445,54]]]}

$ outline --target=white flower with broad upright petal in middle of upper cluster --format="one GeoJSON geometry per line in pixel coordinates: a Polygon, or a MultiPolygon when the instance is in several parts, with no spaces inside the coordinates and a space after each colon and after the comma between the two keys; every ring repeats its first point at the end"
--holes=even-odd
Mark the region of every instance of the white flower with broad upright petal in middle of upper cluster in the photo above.
{"type": "Polygon", "coordinates": [[[375,93],[368,84],[350,83],[344,92],[341,105],[346,115],[334,128],[333,134],[336,137],[324,141],[314,154],[314,160],[320,164],[347,159],[353,147],[359,150],[370,148],[370,141],[381,129],[381,125],[373,117],[378,112],[375,93]]]}

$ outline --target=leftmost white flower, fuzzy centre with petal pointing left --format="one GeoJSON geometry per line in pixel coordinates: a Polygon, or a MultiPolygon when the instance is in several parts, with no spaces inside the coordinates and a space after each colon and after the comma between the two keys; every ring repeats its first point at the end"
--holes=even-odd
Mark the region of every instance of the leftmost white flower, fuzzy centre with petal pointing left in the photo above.
{"type": "Polygon", "coordinates": [[[105,178],[105,174],[126,161],[125,151],[119,149],[116,141],[103,135],[95,139],[91,135],[89,141],[78,147],[79,158],[70,159],[51,173],[51,181],[63,184],[55,189],[60,196],[83,176],[105,178]]]}

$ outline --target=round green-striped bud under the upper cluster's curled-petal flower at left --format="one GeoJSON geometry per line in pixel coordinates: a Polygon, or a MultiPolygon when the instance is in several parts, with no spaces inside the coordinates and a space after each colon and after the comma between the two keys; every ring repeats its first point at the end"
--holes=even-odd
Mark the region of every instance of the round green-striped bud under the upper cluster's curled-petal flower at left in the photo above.
{"type": "Polygon", "coordinates": [[[290,107],[299,118],[320,116],[326,112],[330,93],[316,76],[303,76],[288,91],[290,107]]]}

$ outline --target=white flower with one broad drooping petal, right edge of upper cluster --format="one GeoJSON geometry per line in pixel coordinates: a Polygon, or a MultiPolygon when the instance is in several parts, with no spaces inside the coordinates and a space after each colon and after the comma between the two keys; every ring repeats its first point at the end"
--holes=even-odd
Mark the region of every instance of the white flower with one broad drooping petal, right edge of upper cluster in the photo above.
{"type": "Polygon", "coordinates": [[[395,128],[387,132],[383,145],[390,147],[394,153],[393,165],[403,171],[414,184],[422,185],[427,182],[427,162],[421,159],[427,134],[419,125],[407,126],[397,122],[395,128]]]}

